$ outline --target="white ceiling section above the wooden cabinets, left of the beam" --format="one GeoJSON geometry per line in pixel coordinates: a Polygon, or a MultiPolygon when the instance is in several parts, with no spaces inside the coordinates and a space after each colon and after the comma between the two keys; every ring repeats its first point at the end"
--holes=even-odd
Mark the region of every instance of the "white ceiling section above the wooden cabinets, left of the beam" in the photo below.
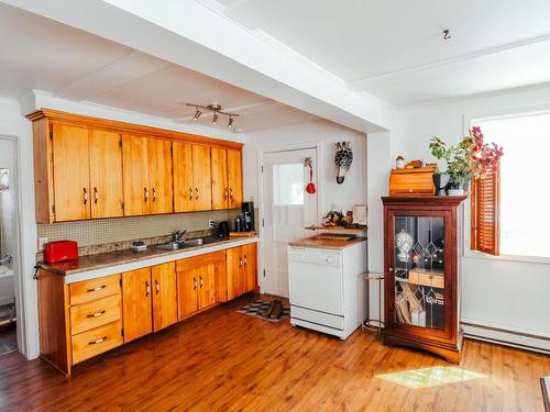
{"type": "MultiPolygon", "coordinates": [[[[253,132],[318,119],[182,66],[0,4],[0,96],[32,90],[194,123],[194,108],[219,103],[241,114],[234,131],[253,132]]],[[[198,123],[210,125],[204,114],[198,123]]],[[[227,120],[217,127],[227,127],[227,120]]]]}

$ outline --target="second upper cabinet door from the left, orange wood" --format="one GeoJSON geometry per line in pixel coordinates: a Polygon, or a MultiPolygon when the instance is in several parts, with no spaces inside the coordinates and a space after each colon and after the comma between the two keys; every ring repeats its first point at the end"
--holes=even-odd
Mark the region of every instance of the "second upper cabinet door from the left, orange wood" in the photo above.
{"type": "Polygon", "coordinates": [[[118,133],[90,131],[91,218],[120,218],[122,202],[122,148],[118,133]]]}

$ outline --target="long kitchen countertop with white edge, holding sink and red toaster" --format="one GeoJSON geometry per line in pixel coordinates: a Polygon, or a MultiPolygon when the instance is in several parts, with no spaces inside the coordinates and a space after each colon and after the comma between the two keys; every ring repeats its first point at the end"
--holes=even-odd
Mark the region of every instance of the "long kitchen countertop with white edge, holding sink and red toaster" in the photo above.
{"type": "Polygon", "coordinates": [[[133,268],[153,266],[205,253],[223,250],[249,243],[256,243],[257,241],[257,236],[245,238],[226,237],[217,242],[199,246],[189,246],[177,250],[166,250],[160,249],[156,246],[150,246],[144,252],[134,252],[133,249],[116,250],[81,256],[77,261],[61,261],[57,264],[46,264],[42,261],[38,265],[44,270],[70,278],[65,282],[72,283],[73,281],[86,280],[98,276],[108,276],[118,271],[127,271],[133,268]],[[89,276],[86,276],[86,274],[89,274],[89,276]]]}

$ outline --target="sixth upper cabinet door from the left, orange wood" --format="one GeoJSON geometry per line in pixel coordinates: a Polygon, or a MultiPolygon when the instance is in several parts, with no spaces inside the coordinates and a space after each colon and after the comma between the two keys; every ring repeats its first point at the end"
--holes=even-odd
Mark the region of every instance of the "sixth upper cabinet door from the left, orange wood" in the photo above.
{"type": "Polygon", "coordinates": [[[193,145],[195,210],[212,209],[212,181],[210,176],[210,146],[193,145]]]}

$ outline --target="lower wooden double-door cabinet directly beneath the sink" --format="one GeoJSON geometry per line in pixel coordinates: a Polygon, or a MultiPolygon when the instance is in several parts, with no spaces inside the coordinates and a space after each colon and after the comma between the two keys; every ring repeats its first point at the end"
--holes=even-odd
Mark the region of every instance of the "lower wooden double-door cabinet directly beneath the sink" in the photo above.
{"type": "Polygon", "coordinates": [[[179,320],[217,302],[217,283],[226,274],[226,252],[176,261],[179,320]],[[218,280],[217,280],[218,279],[218,280]]]}

